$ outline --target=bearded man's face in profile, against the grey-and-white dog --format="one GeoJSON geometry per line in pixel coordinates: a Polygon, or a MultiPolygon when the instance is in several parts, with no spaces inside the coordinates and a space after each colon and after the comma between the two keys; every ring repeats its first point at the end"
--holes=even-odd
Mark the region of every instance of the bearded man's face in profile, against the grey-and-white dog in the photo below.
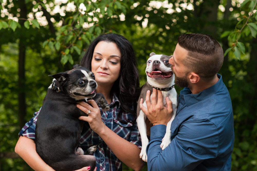
{"type": "Polygon", "coordinates": [[[186,49],[177,44],[173,56],[169,59],[169,63],[172,65],[171,70],[175,74],[175,83],[179,87],[188,87],[188,69],[183,65],[187,53],[186,49]]]}

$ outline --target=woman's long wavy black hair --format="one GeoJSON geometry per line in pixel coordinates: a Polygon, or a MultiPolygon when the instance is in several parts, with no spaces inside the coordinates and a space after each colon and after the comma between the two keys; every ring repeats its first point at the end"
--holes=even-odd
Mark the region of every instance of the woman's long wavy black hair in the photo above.
{"type": "Polygon", "coordinates": [[[91,71],[91,61],[96,45],[101,42],[112,42],[117,45],[121,52],[121,70],[120,76],[115,81],[111,93],[115,93],[120,100],[121,110],[117,118],[122,123],[133,122],[136,119],[136,101],[139,88],[139,75],[137,70],[136,57],[131,43],[123,36],[118,34],[104,34],[94,39],[88,46],[87,52],[80,61],[80,65],[91,71]],[[134,105],[134,110],[130,106],[134,105]],[[131,121],[122,118],[122,112],[132,114],[131,121]],[[124,121],[125,120],[125,121],[124,121]]]}

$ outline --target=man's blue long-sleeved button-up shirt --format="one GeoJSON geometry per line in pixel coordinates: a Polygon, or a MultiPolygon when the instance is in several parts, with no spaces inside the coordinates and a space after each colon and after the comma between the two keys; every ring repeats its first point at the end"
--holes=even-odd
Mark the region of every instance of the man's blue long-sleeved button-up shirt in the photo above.
{"type": "Polygon", "coordinates": [[[234,144],[234,120],[230,95],[219,81],[191,94],[188,87],[180,91],[177,116],[171,123],[171,143],[160,148],[165,125],[151,127],[147,146],[148,170],[217,171],[231,170],[234,144]]]}

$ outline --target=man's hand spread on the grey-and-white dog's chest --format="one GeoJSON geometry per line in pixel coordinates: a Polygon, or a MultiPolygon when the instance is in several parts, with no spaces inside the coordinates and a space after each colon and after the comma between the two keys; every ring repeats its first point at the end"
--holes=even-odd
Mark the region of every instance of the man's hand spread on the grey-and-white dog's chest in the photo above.
{"type": "Polygon", "coordinates": [[[143,106],[143,99],[140,99],[140,109],[146,114],[147,118],[153,125],[166,125],[170,121],[173,114],[172,102],[169,97],[166,97],[167,107],[163,106],[162,92],[153,88],[152,103],[150,102],[150,90],[146,92],[145,97],[146,107],[143,106]],[[157,101],[158,91],[158,101],[157,101]]]}

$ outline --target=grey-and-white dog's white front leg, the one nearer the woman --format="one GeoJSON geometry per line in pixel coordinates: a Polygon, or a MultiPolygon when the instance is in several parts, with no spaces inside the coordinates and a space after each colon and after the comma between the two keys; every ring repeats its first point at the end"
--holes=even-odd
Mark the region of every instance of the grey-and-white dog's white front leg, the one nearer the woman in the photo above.
{"type": "Polygon", "coordinates": [[[144,114],[144,112],[142,110],[140,110],[139,116],[136,119],[137,127],[138,127],[138,130],[139,130],[139,133],[141,136],[141,140],[142,140],[142,149],[141,149],[141,153],[140,153],[140,158],[142,158],[142,160],[147,162],[146,146],[148,145],[149,141],[148,141],[148,138],[146,135],[145,120],[146,120],[146,115],[144,114]]]}

